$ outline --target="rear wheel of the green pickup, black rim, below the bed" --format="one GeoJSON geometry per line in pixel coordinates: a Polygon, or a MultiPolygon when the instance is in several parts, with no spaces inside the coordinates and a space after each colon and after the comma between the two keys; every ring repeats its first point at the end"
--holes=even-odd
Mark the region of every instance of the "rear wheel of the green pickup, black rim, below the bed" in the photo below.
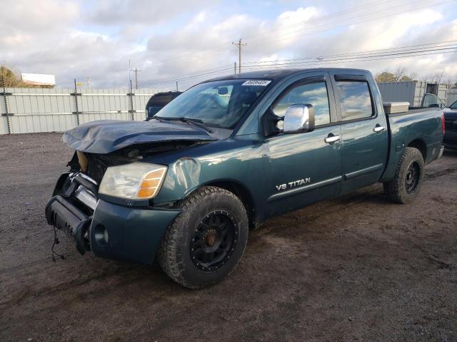
{"type": "Polygon", "coordinates": [[[421,190],[424,173],[421,152],[414,147],[406,147],[398,161],[395,176],[384,183],[386,195],[396,203],[411,202],[421,190]]]}

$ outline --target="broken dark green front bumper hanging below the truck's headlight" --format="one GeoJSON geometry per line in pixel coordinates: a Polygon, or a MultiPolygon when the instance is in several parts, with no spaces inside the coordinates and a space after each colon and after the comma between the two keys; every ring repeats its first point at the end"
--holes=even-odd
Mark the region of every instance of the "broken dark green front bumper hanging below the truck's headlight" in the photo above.
{"type": "MultiPolygon", "coordinates": [[[[97,257],[152,264],[164,232],[180,211],[124,207],[98,198],[91,208],[90,201],[78,196],[82,187],[79,178],[71,174],[66,177],[71,185],[59,195],[59,190],[55,191],[46,204],[48,223],[74,239],[81,254],[90,250],[97,257]]],[[[59,182],[58,187],[61,179],[59,182]]],[[[96,197],[93,189],[89,193],[96,197]]]]}

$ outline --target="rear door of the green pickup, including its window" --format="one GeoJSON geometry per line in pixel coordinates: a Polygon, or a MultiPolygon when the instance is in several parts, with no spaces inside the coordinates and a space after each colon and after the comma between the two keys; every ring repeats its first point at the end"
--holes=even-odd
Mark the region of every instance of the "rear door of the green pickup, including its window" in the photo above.
{"type": "Polygon", "coordinates": [[[369,74],[333,71],[331,81],[341,123],[341,192],[345,193],[381,178],[388,157],[388,127],[369,74]]]}

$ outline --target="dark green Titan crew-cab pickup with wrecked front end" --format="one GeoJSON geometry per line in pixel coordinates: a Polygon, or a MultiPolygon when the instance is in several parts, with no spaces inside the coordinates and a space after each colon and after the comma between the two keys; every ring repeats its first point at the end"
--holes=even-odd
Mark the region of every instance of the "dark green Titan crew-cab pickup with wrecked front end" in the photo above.
{"type": "MultiPolygon", "coordinates": [[[[408,107],[406,107],[408,108],[408,107]]],[[[269,217],[383,182],[413,200],[443,152],[440,108],[386,115],[368,71],[317,68],[214,78],[144,122],[64,134],[75,151],[47,222],[84,254],[151,264],[190,289],[240,261],[269,217]]]]}

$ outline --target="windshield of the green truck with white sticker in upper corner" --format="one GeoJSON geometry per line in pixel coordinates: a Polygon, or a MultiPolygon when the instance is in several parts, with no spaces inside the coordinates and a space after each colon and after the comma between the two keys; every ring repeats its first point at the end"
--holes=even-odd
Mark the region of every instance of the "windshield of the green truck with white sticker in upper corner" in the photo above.
{"type": "Polygon", "coordinates": [[[199,119],[205,125],[233,128],[269,83],[265,80],[201,83],[179,95],[155,116],[199,119]]]}

